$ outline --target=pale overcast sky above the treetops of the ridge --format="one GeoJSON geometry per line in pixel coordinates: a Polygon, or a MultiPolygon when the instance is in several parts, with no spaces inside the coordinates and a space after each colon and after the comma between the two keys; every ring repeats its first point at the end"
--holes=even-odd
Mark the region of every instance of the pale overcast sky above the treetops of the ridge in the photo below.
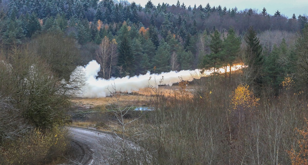
{"type": "MultiPolygon", "coordinates": [[[[133,2],[132,0],[128,0],[129,2],[133,2]]],[[[145,6],[148,0],[134,0],[137,4],[141,4],[141,6],[145,6]]],[[[152,0],[152,3],[157,6],[158,3],[169,3],[169,5],[176,4],[177,0],[152,0]]],[[[262,11],[263,7],[267,10],[268,14],[274,15],[274,13],[279,10],[281,14],[284,14],[286,17],[291,18],[293,13],[295,13],[296,17],[299,14],[308,14],[308,0],[180,0],[182,3],[188,7],[196,6],[198,7],[200,4],[202,7],[205,7],[207,3],[210,4],[211,7],[221,5],[222,7],[226,6],[227,9],[232,9],[235,6],[238,10],[245,9],[257,9],[259,12],[262,11]]]]}

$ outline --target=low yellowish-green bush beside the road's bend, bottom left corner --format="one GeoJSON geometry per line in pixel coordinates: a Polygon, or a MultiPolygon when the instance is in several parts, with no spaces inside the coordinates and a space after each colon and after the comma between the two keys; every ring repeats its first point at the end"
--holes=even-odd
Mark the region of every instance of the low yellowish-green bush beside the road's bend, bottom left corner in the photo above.
{"type": "Polygon", "coordinates": [[[66,151],[66,131],[55,126],[43,133],[34,129],[16,140],[8,140],[0,147],[0,164],[45,164],[66,151]]]}

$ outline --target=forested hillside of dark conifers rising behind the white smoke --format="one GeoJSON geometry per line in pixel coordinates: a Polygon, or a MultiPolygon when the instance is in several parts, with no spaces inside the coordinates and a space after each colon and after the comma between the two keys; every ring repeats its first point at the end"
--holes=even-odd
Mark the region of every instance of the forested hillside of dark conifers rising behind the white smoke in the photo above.
{"type": "MultiPolygon", "coordinates": [[[[115,58],[98,59],[105,78],[142,74],[154,66],[156,72],[195,69],[204,54],[210,53],[209,36],[215,29],[223,37],[233,27],[243,38],[253,26],[260,37],[275,32],[286,38],[301,32],[307,23],[306,16],[286,18],[279,11],[271,15],[265,8],[258,13],[251,8],[239,11],[209,3],[186,6],[179,1],[157,6],[148,1],[140,6],[112,0],[0,0],[0,6],[1,45],[25,44],[47,33],[73,37],[84,64],[101,55],[99,44],[107,44],[115,58]]],[[[282,38],[268,42],[265,52],[282,38]]]]}

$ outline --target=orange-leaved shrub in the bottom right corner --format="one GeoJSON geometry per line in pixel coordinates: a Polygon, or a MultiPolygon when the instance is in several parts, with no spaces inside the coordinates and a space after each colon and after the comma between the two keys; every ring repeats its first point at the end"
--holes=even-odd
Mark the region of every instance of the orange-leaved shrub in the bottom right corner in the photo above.
{"type": "Polygon", "coordinates": [[[299,150],[296,151],[294,146],[292,146],[291,150],[287,151],[292,165],[308,165],[308,120],[306,118],[305,120],[306,127],[304,127],[302,130],[295,128],[297,133],[301,136],[297,141],[299,150]]]}

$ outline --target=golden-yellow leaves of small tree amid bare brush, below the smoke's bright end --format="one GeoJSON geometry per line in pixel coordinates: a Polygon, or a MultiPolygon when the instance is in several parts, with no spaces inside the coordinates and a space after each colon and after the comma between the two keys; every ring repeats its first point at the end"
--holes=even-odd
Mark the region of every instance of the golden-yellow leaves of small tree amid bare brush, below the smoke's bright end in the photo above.
{"type": "MultiPolygon", "coordinates": [[[[231,106],[232,110],[251,110],[257,108],[259,105],[259,98],[253,95],[253,92],[249,90],[249,85],[238,85],[232,95],[231,106]]],[[[231,111],[230,111],[231,112],[231,111]]]]}

